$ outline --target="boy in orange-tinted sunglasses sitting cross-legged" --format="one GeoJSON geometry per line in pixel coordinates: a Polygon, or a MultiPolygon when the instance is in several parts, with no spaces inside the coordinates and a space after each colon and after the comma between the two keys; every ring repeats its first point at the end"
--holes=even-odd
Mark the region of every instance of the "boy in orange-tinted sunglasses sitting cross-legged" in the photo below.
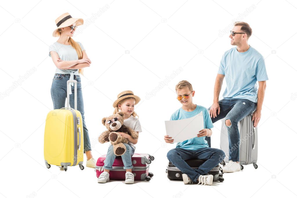
{"type": "MultiPolygon", "coordinates": [[[[181,170],[184,184],[198,183],[211,185],[213,175],[206,175],[212,168],[217,166],[222,159],[225,158],[224,151],[220,149],[209,148],[205,140],[205,136],[210,137],[213,128],[211,118],[207,108],[192,103],[195,91],[188,81],[181,81],[176,85],[177,99],[182,104],[176,112],[171,115],[170,120],[180,120],[196,116],[200,112],[203,113],[204,129],[200,130],[197,137],[183,142],[178,142],[175,149],[171,149],[167,153],[167,158],[173,165],[181,170]],[[185,160],[187,159],[203,159],[206,160],[197,169],[192,169],[185,160]]],[[[186,127],[186,126],[185,126],[186,127]]],[[[173,143],[174,139],[164,136],[166,143],[173,143]]]]}

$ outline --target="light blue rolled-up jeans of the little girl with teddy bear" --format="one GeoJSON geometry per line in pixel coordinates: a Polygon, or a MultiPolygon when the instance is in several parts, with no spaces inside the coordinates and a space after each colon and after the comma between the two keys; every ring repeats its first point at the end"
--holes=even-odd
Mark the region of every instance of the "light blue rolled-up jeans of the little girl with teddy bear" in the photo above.
{"type": "MultiPolygon", "coordinates": [[[[124,163],[124,169],[132,169],[133,166],[132,166],[131,157],[134,154],[134,148],[126,143],[124,143],[124,145],[126,146],[126,152],[123,155],[121,155],[123,163],[124,163]]],[[[108,147],[108,151],[106,154],[106,158],[105,158],[103,167],[107,170],[111,170],[114,159],[116,159],[116,157],[117,156],[113,153],[113,145],[110,145],[108,147]]]]}

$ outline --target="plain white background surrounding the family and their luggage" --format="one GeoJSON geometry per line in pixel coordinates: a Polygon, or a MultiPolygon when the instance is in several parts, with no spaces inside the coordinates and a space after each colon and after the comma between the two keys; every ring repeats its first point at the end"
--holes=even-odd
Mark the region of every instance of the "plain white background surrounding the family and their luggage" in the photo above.
{"type": "MultiPolygon", "coordinates": [[[[0,197],[296,196],[296,11],[293,0],[1,1],[0,197]],[[104,13],[94,19],[100,9],[104,13]],[[119,92],[132,90],[141,98],[135,111],[143,129],[136,153],[155,157],[151,181],[99,184],[92,168],[63,172],[45,167],[43,135],[46,115],[53,109],[55,72],[48,46],[57,40],[52,37],[55,19],[64,12],[89,21],[73,39],[83,44],[92,61],[82,87],[94,158],[108,147],[97,141],[105,130],[101,119],[113,113],[119,92]],[[229,34],[219,33],[230,31],[238,19],[251,25],[249,44],[265,58],[269,78],[258,126],[259,168],[248,165],[225,173],[225,181],[212,186],[169,181],[166,154],[175,144],[166,145],[163,136],[164,121],[181,106],[175,85],[188,80],[196,91],[194,103],[212,104],[220,59],[233,47],[229,34]],[[183,71],[156,91],[180,67],[183,71]],[[155,95],[146,98],[149,92],[155,95]]],[[[220,125],[213,128],[215,148],[220,125]]]]}

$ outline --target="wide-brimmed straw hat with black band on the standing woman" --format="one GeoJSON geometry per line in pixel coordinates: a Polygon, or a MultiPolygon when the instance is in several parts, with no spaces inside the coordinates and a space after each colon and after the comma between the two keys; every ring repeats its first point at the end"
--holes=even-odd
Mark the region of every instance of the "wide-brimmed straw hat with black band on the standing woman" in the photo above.
{"type": "Polygon", "coordinates": [[[53,37],[58,36],[59,28],[65,28],[67,26],[72,25],[73,23],[76,23],[76,26],[83,25],[83,19],[72,18],[68,12],[59,16],[55,22],[58,28],[55,31],[53,31],[53,37]]]}

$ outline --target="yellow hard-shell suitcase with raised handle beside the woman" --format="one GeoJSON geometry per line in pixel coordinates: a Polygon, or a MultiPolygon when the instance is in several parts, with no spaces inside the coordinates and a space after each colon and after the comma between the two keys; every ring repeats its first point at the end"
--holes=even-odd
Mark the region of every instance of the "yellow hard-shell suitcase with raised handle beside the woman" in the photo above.
{"type": "MultiPolygon", "coordinates": [[[[71,87],[70,87],[71,89],[71,87]]],[[[77,81],[67,81],[67,107],[50,111],[46,117],[44,132],[44,160],[50,165],[79,165],[83,170],[83,119],[77,109],[77,81]],[[69,107],[69,83],[75,84],[74,106],[69,107]]]]}

